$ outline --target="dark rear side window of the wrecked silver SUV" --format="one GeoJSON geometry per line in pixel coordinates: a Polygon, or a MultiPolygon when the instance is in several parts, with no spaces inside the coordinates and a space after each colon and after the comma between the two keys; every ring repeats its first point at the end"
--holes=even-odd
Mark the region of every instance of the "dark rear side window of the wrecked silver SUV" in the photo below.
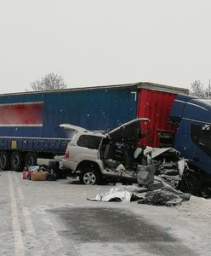
{"type": "Polygon", "coordinates": [[[90,149],[99,149],[102,137],[92,135],[82,135],[77,140],[77,146],[90,149]]]}

